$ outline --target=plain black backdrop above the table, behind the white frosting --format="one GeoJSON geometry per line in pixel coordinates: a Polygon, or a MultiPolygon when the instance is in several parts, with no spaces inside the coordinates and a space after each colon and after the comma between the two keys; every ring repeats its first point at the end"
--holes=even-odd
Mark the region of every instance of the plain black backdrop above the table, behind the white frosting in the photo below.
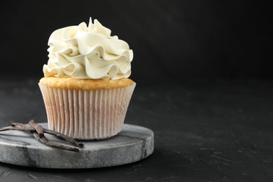
{"type": "Polygon", "coordinates": [[[89,18],[134,50],[132,76],[272,79],[269,5],[255,1],[1,1],[0,76],[43,76],[52,31],[89,18]]]}

